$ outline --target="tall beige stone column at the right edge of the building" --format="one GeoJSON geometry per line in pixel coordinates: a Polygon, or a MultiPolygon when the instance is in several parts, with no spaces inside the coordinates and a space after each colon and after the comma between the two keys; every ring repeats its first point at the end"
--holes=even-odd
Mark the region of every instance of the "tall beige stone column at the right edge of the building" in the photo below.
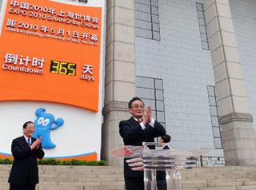
{"type": "Polygon", "coordinates": [[[228,0],[204,3],[226,165],[256,165],[256,135],[228,0]]]}

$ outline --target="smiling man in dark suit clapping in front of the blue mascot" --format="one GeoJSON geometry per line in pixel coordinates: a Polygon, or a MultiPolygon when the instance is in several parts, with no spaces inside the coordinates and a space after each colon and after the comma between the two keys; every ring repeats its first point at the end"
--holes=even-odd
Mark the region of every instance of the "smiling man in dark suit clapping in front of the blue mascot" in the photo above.
{"type": "Polygon", "coordinates": [[[10,170],[10,190],[34,190],[38,184],[38,162],[45,152],[42,150],[40,139],[32,137],[34,123],[27,121],[23,125],[23,136],[13,140],[11,152],[14,156],[14,164],[10,170]]]}

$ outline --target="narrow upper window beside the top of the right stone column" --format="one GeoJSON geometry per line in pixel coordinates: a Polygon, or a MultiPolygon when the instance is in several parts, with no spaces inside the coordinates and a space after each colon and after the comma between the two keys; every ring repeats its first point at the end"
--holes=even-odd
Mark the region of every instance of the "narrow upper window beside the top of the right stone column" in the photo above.
{"type": "Polygon", "coordinates": [[[205,19],[205,13],[203,10],[203,4],[200,2],[197,2],[196,4],[197,4],[197,10],[198,10],[198,23],[199,23],[202,49],[209,50],[209,40],[206,32],[206,19],[205,19]]]}

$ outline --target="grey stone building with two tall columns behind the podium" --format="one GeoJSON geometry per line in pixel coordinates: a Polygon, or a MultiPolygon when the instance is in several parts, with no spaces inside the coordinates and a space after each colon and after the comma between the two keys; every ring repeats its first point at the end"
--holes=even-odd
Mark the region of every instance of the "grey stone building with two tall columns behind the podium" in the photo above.
{"type": "Polygon", "coordinates": [[[254,165],[256,2],[106,1],[102,159],[142,97],[174,148],[210,148],[206,165],[254,165]],[[225,161],[224,161],[225,157],[225,161]]]}

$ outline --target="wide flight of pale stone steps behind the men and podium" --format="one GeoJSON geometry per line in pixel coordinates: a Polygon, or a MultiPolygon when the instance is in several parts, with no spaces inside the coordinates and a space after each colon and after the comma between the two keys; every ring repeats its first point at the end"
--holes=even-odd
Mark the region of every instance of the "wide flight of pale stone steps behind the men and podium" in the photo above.
{"type": "MultiPolygon", "coordinates": [[[[0,165],[0,190],[7,183],[11,165],[0,165]]],[[[39,165],[37,190],[124,189],[122,167],[39,165]]],[[[184,190],[255,189],[256,167],[208,167],[181,170],[184,190]]]]}

